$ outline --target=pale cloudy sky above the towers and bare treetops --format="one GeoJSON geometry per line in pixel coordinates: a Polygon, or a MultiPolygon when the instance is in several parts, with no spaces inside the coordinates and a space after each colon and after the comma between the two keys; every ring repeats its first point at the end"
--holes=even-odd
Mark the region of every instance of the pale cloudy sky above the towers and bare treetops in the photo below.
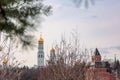
{"type": "MultiPolygon", "coordinates": [[[[95,0],[89,8],[83,3],[77,7],[72,0],[46,0],[44,3],[51,5],[53,12],[48,17],[43,16],[42,23],[38,21],[39,28],[34,35],[37,43],[42,32],[45,54],[49,55],[50,48],[60,41],[62,34],[70,36],[76,30],[84,47],[97,47],[104,59],[114,59],[115,54],[120,58],[120,0],[95,0]]],[[[36,46],[22,53],[24,64],[37,64],[37,51],[36,46]]]]}

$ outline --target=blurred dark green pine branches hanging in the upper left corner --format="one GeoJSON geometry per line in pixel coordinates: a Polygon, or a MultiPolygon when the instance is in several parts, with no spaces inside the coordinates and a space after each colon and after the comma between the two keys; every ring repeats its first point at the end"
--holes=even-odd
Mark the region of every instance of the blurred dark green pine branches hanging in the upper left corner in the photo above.
{"type": "Polygon", "coordinates": [[[0,33],[19,39],[23,45],[30,45],[29,31],[35,30],[36,15],[48,16],[51,6],[43,0],[0,0],[0,33]]]}

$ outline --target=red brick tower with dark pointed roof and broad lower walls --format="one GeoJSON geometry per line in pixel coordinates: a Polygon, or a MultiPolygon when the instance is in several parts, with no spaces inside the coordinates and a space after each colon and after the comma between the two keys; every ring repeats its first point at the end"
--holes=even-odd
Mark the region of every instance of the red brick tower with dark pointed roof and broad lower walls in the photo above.
{"type": "Polygon", "coordinates": [[[108,61],[101,60],[101,54],[95,49],[92,63],[86,71],[86,80],[118,80],[118,73],[108,61]]]}

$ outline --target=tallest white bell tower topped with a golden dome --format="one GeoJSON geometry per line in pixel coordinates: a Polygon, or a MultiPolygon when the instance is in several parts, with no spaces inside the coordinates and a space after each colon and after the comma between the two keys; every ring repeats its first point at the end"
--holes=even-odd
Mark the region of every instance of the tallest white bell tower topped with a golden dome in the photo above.
{"type": "Polygon", "coordinates": [[[38,54],[37,54],[37,63],[38,67],[44,67],[44,40],[42,35],[40,35],[40,39],[38,40],[38,54]]]}

